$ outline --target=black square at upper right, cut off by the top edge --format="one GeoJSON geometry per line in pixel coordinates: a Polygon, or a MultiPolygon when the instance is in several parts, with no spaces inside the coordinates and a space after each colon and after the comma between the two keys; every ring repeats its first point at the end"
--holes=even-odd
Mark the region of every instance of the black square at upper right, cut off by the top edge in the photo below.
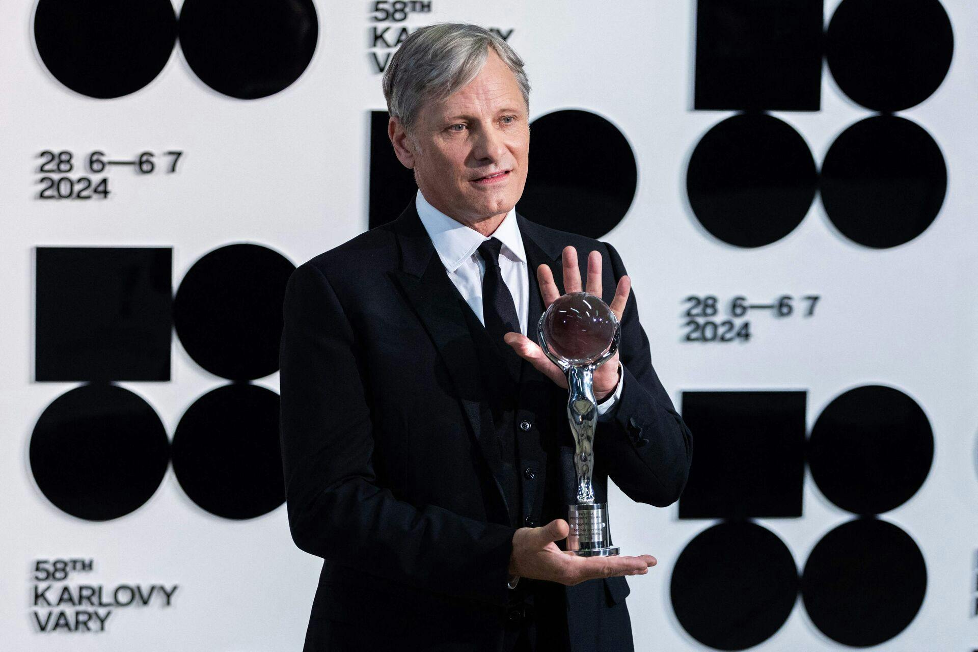
{"type": "Polygon", "coordinates": [[[819,110],[822,0],[697,0],[693,109],[819,110]]]}

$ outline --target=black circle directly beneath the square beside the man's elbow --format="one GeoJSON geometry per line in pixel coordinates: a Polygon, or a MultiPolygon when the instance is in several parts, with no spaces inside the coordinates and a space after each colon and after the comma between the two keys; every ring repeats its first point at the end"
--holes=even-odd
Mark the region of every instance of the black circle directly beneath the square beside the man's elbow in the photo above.
{"type": "Polygon", "coordinates": [[[728,521],[689,542],[669,591],[689,635],[718,650],[743,650],[784,625],[798,582],[794,559],[778,535],[751,521],[728,521]]]}

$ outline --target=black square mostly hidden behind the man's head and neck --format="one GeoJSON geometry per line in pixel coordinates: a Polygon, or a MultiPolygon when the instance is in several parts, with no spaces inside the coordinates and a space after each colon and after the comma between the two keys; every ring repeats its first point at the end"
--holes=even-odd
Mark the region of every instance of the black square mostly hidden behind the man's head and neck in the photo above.
{"type": "Polygon", "coordinates": [[[370,228],[392,222],[408,205],[418,186],[414,170],[404,167],[387,137],[385,110],[370,116],[370,228]]]}

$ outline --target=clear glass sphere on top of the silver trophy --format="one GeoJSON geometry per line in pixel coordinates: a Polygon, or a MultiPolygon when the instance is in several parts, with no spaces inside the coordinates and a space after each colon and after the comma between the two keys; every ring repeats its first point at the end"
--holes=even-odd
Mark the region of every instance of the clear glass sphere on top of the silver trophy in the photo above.
{"type": "Polygon", "coordinates": [[[569,365],[588,365],[608,350],[618,321],[600,297],[568,292],[544,316],[544,337],[550,352],[569,365]]]}

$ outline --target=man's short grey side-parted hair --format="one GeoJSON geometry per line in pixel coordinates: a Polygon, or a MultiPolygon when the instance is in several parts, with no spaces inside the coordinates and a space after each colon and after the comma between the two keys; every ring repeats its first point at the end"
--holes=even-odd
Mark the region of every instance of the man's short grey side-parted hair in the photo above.
{"type": "Polygon", "coordinates": [[[530,82],[523,60],[499,35],[467,22],[438,22],[413,32],[383,71],[387,112],[410,130],[422,103],[444,100],[475,78],[492,48],[510,67],[527,109],[530,82]]]}

